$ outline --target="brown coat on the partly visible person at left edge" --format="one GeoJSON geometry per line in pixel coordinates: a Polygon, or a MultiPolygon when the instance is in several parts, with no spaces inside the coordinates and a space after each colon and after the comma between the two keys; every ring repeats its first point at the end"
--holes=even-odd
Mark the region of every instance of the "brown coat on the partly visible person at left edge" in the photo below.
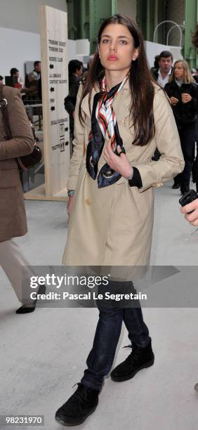
{"type": "Polygon", "coordinates": [[[30,154],[34,138],[29,126],[20,91],[3,88],[8,101],[8,116],[12,138],[5,141],[5,129],[0,109],[0,242],[27,233],[25,205],[16,157],[30,154]]]}

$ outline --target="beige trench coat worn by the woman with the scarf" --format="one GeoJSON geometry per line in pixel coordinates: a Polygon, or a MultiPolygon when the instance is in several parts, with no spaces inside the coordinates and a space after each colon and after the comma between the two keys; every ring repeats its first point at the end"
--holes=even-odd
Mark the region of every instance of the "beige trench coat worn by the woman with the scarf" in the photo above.
{"type": "MultiPolygon", "coordinates": [[[[78,115],[80,86],[74,119],[74,153],[67,182],[67,189],[76,190],[76,193],[62,259],[65,265],[146,266],[150,261],[153,190],[183,171],[183,153],[171,107],[164,91],[157,86],[154,96],[156,134],[143,147],[131,144],[134,131],[133,127],[129,128],[130,92],[126,82],[112,105],[126,155],[131,165],[138,168],[143,187],[130,187],[121,177],[117,183],[98,189],[97,180],[94,181],[86,171],[86,153],[83,156],[91,129],[91,115],[86,96],[82,103],[86,123],[81,125],[78,115]],[[161,157],[154,162],[152,155],[156,148],[161,157]]],[[[94,95],[95,90],[91,106],[94,95]]],[[[106,137],[105,145],[107,141],[106,137]]],[[[98,171],[103,164],[102,154],[98,171]]]]}

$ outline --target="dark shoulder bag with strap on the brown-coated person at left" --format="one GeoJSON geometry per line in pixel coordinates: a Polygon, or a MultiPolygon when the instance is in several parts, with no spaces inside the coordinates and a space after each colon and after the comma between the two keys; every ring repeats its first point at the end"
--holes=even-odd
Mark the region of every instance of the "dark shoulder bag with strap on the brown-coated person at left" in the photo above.
{"type": "MultiPolygon", "coordinates": [[[[4,127],[6,132],[6,139],[10,140],[11,137],[11,130],[9,126],[9,119],[8,119],[8,102],[6,98],[4,98],[3,95],[3,85],[0,85],[0,108],[2,112],[2,116],[4,119],[4,127]]],[[[28,117],[28,115],[27,115],[28,117]]],[[[29,119],[29,117],[28,117],[29,119]]],[[[41,148],[39,148],[39,138],[37,138],[34,130],[34,125],[32,124],[31,120],[29,119],[29,126],[32,129],[32,134],[34,136],[34,149],[31,152],[31,154],[28,155],[22,155],[22,157],[18,157],[16,160],[18,162],[18,167],[20,170],[26,171],[27,169],[30,169],[30,167],[34,167],[35,164],[38,164],[41,161],[42,158],[42,152],[41,148]]]]}

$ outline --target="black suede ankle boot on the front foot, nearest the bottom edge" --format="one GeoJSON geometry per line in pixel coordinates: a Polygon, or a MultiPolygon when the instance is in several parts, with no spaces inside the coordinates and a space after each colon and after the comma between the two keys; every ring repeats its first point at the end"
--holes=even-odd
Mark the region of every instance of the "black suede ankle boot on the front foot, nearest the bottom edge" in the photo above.
{"type": "Polygon", "coordinates": [[[78,384],[77,390],[55,413],[55,420],[63,426],[77,426],[91,415],[98,405],[98,390],[78,384]]]}

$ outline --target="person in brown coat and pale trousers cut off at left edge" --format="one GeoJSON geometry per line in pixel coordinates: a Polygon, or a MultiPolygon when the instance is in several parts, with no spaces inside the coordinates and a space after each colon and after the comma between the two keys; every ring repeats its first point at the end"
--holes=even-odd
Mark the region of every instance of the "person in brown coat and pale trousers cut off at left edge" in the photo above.
{"type": "MultiPolygon", "coordinates": [[[[22,267],[29,266],[13,237],[27,233],[25,205],[17,157],[30,154],[34,148],[34,138],[29,120],[22,103],[20,91],[9,86],[1,86],[0,105],[0,265],[22,302],[22,267]],[[6,136],[3,110],[8,110],[11,138],[6,136]]],[[[27,279],[32,275],[27,271],[27,279]]],[[[31,272],[31,273],[30,273],[31,272]]],[[[25,273],[24,273],[25,274],[25,273]]],[[[35,304],[29,302],[21,306],[17,313],[34,311],[35,304]]]]}

